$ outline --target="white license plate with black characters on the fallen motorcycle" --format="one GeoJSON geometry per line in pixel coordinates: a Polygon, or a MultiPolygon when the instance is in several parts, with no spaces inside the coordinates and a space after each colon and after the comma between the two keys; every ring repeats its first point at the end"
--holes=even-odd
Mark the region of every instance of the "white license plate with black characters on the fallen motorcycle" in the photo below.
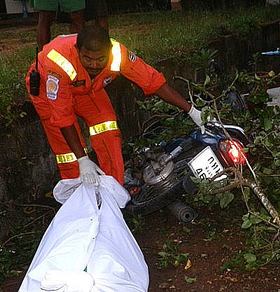
{"type": "MultiPolygon", "coordinates": [[[[193,174],[199,179],[211,179],[216,174],[223,171],[223,166],[212,151],[210,146],[204,148],[190,162],[188,162],[193,174]]],[[[225,179],[225,175],[216,180],[225,179]]]]}

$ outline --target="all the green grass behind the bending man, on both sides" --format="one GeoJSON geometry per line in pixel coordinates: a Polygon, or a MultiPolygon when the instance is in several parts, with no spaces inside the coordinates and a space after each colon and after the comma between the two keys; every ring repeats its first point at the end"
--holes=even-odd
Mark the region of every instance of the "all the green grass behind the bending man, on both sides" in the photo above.
{"type": "MultiPolygon", "coordinates": [[[[229,11],[158,11],[111,15],[109,27],[114,39],[148,64],[156,65],[166,58],[186,59],[191,52],[201,50],[210,40],[224,34],[250,38],[261,23],[278,20],[279,15],[279,6],[229,11]]],[[[52,26],[52,37],[67,32],[66,24],[52,26]]],[[[36,27],[1,30],[0,39],[9,48],[6,51],[5,46],[0,52],[0,115],[4,118],[8,106],[28,98],[24,78],[35,57],[36,27]]]]}

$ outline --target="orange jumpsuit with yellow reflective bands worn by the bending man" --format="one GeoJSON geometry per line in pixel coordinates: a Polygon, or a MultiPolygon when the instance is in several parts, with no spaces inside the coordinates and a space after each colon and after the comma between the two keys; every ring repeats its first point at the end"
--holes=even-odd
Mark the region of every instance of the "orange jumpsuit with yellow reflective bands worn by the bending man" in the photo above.
{"type": "MultiPolygon", "coordinates": [[[[38,54],[40,93],[38,96],[29,94],[30,98],[56,155],[62,179],[78,177],[79,169],[76,156],[66,144],[60,128],[75,125],[85,147],[77,120],[80,116],[90,128],[91,146],[97,153],[99,167],[122,184],[124,165],[120,130],[104,88],[122,74],[139,85],[145,95],[151,95],[166,83],[165,77],[112,40],[113,49],[106,68],[90,80],[80,64],[75,44],[76,35],[67,35],[58,36],[43,47],[38,54]]],[[[35,63],[31,64],[27,74],[28,92],[29,74],[34,68],[35,63]]]]}

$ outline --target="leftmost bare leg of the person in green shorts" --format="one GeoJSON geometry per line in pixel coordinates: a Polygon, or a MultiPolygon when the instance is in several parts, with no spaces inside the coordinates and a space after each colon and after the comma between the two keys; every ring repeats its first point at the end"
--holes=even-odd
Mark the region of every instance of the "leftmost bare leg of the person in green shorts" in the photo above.
{"type": "Polygon", "coordinates": [[[50,42],[50,27],[55,19],[55,11],[39,11],[39,19],[37,25],[37,43],[39,50],[46,43],[50,42]]]}

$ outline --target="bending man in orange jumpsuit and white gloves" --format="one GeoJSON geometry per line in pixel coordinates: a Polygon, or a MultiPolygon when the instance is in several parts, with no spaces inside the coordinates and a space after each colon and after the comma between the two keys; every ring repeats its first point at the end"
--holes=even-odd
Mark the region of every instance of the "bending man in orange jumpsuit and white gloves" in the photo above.
{"type": "Polygon", "coordinates": [[[167,85],[161,73],[110,39],[106,29],[85,27],[78,35],[57,36],[38,54],[37,66],[31,64],[26,85],[62,179],[80,176],[98,186],[99,174],[107,174],[123,184],[120,130],[104,90],[118,74],[139,85],[145,95],[155,94],[179,106],[203,130],[201,112],[167,85]],[[36,69],[41,77],[38,94],[30,88],[36,69]],[[89,127],[99,166],[87,156],[77,116],[89,127]]]}

